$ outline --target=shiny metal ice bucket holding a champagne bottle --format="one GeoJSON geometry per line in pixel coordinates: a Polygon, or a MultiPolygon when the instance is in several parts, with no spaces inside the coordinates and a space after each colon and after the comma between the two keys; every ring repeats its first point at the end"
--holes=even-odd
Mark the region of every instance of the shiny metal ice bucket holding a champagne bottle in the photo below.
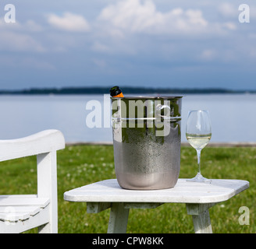
{"type": "Polygon", "coordinates": [[[116,178],[126,189],[172,188],[180,174],[182,96],[112,97],[116,178]]]}

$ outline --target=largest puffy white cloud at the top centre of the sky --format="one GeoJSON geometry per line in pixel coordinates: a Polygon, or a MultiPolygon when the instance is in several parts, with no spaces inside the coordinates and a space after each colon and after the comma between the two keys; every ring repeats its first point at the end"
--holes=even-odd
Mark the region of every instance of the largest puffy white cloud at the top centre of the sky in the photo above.
{"type": "Polygon", "coordinates": [[[181,8],[159,12],[151,0],[119,1],[108,5],[98,16],[105,25],[132,33],[197,33],[208,26],[201,10],[181,8]]]}

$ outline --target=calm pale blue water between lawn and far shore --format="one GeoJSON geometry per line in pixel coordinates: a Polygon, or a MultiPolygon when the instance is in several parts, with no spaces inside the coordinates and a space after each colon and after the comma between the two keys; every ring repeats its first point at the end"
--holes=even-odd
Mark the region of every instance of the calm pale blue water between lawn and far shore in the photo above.
{"type": "MultiPolygon", "coordinates": [[[[104,124],[103,95],[2,95],[0,139],[16,139],[58,129],[66,142],[112,142],[111,125],[104,124]],[[87,103],[101,103],[101,127],[89,128],[87,103]],[[107,126],[106,128],[104,127],[107,126]]],[[[212,119],[212,142],[256,142],[256,94],[200,94],[183,96],[182,142],[188,110],[208,110],[212,119]]],[[[93,109],[94,110],[94,109],[93,109]]]]}

